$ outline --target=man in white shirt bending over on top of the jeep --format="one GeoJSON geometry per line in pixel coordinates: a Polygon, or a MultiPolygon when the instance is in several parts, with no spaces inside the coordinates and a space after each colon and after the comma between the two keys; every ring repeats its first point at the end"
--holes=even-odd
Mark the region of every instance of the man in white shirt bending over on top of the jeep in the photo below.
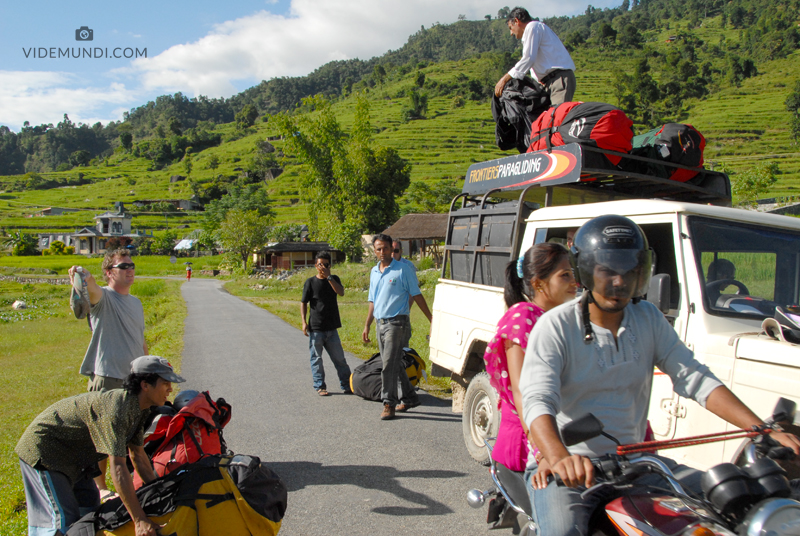
{"type": "Polygon", "coordinates": [[[550,96],[553,106],[570,102],[575,95],[575,63],[561,40],[546,24],[533,20],[524,8],[516,7],[508,14],[508,30],[522,41],[522,57],[494,86],[500,97],[512,79],[521,80],[530,70],[550,96]]]}

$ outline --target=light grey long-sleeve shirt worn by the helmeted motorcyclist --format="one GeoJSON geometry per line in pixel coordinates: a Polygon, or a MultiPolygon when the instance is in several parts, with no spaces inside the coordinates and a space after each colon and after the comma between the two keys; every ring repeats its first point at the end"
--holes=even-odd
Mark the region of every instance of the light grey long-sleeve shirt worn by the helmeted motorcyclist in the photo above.
{"type": "MultiPolygon", "coordinates": [[[[520,378],[525,422],[553,415],[559,429],[593,413],[621,443],[644,440],[653,367],[672,378],[680,396],[705,407],[722,385],[678,338],[651,303],[629,304],[617,340],[592,324],[594,341],[583,341],[580,299],[545,313],[531,332],[520,378]]],[[[596,457],[614,452],[605,437],[569,447],[571,454],[596,457]]]]}

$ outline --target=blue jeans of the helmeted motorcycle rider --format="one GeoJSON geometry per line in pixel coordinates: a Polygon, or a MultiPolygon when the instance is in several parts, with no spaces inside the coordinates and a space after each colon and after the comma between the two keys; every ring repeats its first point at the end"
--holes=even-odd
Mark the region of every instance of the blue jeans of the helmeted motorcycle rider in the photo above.
{"type": "MultiPolygon", "coordinates": [[[[653,457],[667,464],[684,489],[700,492],[702,471],[679,465],[663,456],[653,457]]],[[[539,529],[537,536],[586,536],[590,534],[589,519],[592,513],[617,496],[615,490],[609,490],[610,493],[596,493],[583,501],[581,491],[584,488],[560,487],[555,480],[551,480],[545,489],[535,490],[531,484],[531,477],[535,473],[536,466],[525,471],[525,487],[531,499],[533,519],[539,529]]],[[[642,486],[669,486],[656,474],[639,477],[635,483],[642,486]]]]}

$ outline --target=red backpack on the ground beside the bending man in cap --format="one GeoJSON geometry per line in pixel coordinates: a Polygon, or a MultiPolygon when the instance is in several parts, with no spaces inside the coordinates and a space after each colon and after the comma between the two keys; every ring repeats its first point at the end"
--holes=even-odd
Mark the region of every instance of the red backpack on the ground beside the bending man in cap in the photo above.
{"type": "MultiPolygon", "coordinates": [[[[145,450],[150,454],[157,476],[164,476],[187,463],[212,455],[228,454],[222,429],[231,420],[231,406],[224,398],[216,402],[208,391],[194,397],[173,416],[161,415],[155,430],[145,438],[145,450]]],[[[144,482],[134,474],[136,489],[144,482]]]]}

